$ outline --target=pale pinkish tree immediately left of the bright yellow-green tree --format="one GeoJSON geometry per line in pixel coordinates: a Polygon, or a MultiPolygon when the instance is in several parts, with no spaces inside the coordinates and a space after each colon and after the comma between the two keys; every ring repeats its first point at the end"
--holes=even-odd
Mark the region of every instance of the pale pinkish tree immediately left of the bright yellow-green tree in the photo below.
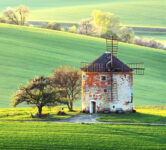
{"type": "Polygon", "coordinates": [[[82,19],[79,22],[79,32],[85,35],[91,35],[94,32],[92,18],[82,19]]]}

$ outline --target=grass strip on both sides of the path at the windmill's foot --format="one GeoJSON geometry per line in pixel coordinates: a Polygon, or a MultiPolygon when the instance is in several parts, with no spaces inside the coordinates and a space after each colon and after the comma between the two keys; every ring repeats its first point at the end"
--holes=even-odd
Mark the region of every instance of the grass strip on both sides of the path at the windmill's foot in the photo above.
{"type": "MultiPolygon", "coordinates": [[[[134,107],[136,113],[125,114],[97,114],[98,121],[104,122],[118,122],[118,123],[160,123],[166,124],[166,106],[137,106],[134,107]]],[[[43,114],[48,114],[48,117],[37,118],[31,117],[37,113],[37,108],[1,108],[0,109],[0,121],[57,121],[67,119],[75,115],[85,115],[80,113],[80,108],[74,108],[74,112],[69,112],[67,108],[63,111],[66,115],[57,115],[61,111],[61,107],[44,107],[43,114]]]]}

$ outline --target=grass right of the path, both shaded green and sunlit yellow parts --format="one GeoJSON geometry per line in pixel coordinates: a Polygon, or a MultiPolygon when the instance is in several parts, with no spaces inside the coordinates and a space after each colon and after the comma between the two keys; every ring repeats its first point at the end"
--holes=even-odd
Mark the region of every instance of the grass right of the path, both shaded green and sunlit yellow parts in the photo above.
{"type": "Polygon", "coordinates": [[[166,106],[135,107],[136,113],[105,114],[98,121],[132,123],[166,123],[166,106]]]}

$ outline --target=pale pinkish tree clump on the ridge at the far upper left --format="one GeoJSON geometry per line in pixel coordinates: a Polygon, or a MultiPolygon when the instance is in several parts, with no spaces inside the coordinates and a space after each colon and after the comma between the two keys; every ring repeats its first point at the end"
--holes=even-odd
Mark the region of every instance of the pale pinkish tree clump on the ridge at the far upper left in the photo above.
{"type": "Polygon", "coordinates": [[[25,25],[28,14],[29,8],[23,5],[18,6],[16,9],[8,7],[3,12],[3,16],[9,23],[17,25],[25,25]]]}

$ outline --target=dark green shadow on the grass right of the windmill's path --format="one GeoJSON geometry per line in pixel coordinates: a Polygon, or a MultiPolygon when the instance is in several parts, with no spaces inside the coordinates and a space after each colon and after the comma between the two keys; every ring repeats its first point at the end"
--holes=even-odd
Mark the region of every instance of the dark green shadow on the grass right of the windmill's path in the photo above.
{"type": "Polygon", "coordinates": [[[130,123],[166,123],[166,117],[144,113],[104,114],[97,118],[104,122],[130,122],[130,123]]]}

